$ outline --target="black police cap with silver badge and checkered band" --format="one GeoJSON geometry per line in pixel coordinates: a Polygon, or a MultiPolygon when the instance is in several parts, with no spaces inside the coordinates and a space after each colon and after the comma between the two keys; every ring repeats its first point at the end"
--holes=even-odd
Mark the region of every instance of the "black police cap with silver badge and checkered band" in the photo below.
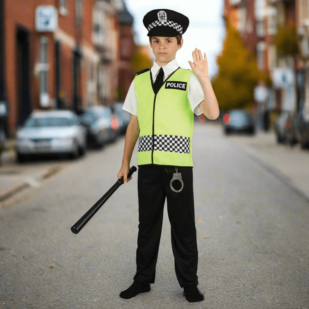
{"type": "Polygon", "coordinates": [[[176,11],[157,9],[148,12],[143,23],[148,30],[147,36],[174,37],[184,34],[189,26],[189,19],[176,11]]]}

